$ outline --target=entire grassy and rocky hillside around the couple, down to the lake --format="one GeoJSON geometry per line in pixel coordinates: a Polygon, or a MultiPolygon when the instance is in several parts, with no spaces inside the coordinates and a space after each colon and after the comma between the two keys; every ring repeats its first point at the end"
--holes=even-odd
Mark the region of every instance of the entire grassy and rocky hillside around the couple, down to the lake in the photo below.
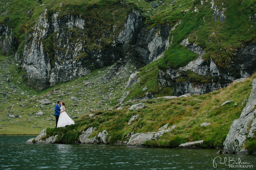
{"type": "Polygon", "coordinates": [[[222,146],[255,78],[255,2],[1,0],[0,134],[54,127],[62,100],[76,124],[44,138],[81,142],[88,130],[95,143],[125,143],[168,124],[143,145],[222,146]]]}

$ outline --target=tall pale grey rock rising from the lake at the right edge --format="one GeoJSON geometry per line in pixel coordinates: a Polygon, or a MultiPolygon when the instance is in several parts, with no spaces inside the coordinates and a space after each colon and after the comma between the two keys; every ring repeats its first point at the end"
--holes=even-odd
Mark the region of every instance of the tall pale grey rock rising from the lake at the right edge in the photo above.
{"type": "MultiPolygon", "coordinates": [[[[240,118],[232,123],[227,138],[224,142],[224,153],[237,153],[241,151],[244,143],[254,137],[256,130],[256,79],[252,82],[252,89],[246,106],[244,107],[240,118]]],[[[241,151],[244,152],[244,151],[241,151]]]]}

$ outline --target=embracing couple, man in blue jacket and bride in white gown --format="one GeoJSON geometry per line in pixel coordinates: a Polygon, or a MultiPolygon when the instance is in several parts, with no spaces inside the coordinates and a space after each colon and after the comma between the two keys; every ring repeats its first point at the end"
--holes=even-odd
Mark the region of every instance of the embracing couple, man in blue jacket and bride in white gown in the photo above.
{"type": "Polygon", "coordinates": [[[75,122],[68,116],[65,112],[65,103],[57,101],[55,105],[55,118],[56,118],[56,127],[65,127],[66,125],[73,125],[75,122]]]}

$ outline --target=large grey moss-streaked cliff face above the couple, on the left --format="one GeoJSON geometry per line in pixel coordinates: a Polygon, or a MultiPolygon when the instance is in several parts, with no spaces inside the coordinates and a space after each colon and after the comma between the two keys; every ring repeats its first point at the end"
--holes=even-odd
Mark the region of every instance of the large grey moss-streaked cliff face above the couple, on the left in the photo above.
{"type": "MultiPolygon", "coordinates": [[[[112,36],[113,43],[105,45],[99,38],[95,48],[88,49],[86,20],[78,15],[58,16],[45,8],[36,21],[32,32],[27,34],[23,54],[16,54],[21,60],[29,84],[43,90],[58,82],[66,82],[85,76],[94,68],[114,64],[135,44],[135,36],[141,28],[142,16],[131,10],[123,23],[123,28],[114,31],[102,30],[104,37],[112,36]],[[86,46],[87,45],[87,46],[86,46]],[[99,50],[98,47],[103,47],[99,50]],[[23,57],[22,57],[23,56],[23,57]]],[[[99,28],[101,29],[101,28],[99,28]]]]}

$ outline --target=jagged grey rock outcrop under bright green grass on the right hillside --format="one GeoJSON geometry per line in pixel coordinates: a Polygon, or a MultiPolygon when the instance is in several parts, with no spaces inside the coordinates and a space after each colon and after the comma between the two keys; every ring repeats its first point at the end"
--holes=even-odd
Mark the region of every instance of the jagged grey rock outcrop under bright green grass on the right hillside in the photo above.
{"type": "Polygon", "coordinates": [[[255,45],[243,47],[241,50],[238,50],[237,53],[234,54],[236,57],[234,57],[234,62],[232,61],[232,64],[229,68],[230,71],[224,73],[219,70],[212,58],[210,61],[203,60],[202,55],[204,54],[204,50],[200,46],[189,43],[188,39],[183,40],[180,44],[186,46],[194,53],[199,54],[199,57],[196,60],[191,61],[185,67],[180,67],[178,69],[168,68],[167,70],[159,70],[158,82],[163,87],[173,87],[173,94],[175,96],[179,96],[185,93],[210,93],[212,91],[226,87],[232,81],[241,77],[248,77],[250,74],[252,74],[249,72],[247,67],[249,67],[252,71],[252,67],[254,67],[256,64],[255,45]],[[246,55],[248,57],[246,57],[246,55]],[[191,77],[189,77],[187,74],[188,71],[198,75],[199,77],[201,76],[201,81],[195,81],[193,79],[191,80],[191,77]],[[235,74],[234,72],[239,74],[235,74]],[[183,80],[181,81],[180,78],[183,80]]]}

